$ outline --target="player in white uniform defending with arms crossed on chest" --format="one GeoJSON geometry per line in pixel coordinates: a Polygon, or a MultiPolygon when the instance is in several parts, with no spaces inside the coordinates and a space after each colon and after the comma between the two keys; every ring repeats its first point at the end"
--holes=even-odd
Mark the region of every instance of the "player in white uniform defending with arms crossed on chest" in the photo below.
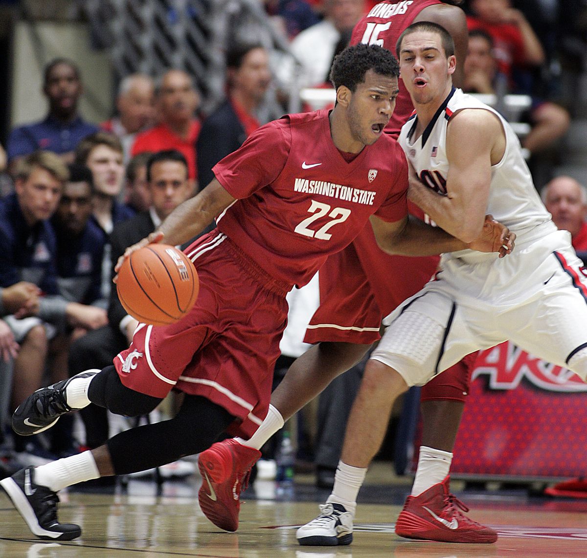
{"type": "MultiPolygon", "coordinates": [[[[301,545],[352,541],[357,493],[394,400],[409,386],[505,340],[587,376],[587,279],[571,236],[556,229],[535,191],[517,137],[495,110],[453,87],[454,43],[444,28],[414,23],[396,52],[415,108],[399,137],[410,163],[409,198],[464,242],[478,235],[486,213],[494,215],[517,234],[516,252],[506,259],[470,250],[443,255],[435,278],[384,319],[333,492],[321,515],[298,530],[301,545]]],[[[454,498],[438,486],[410,497],[422,500],[421,515],[404,508],[400,531],[426,539],[430,519],[455,528],[448,518],[426,516],[436,500],[454,498]]]]}

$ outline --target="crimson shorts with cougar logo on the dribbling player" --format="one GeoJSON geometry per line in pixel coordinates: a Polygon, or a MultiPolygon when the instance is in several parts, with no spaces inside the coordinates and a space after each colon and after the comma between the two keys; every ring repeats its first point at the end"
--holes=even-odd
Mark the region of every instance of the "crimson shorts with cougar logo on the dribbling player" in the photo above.
{"type": "Polygon", "coordinates": [[[221,405],[238,419],[232,431],[249,438],[268,409],[290,286],[218,231],[184,252],[200,279],[193,309],[167,326],[139,324],[114,366],[140,393],[163,398],[176,388],[221,405]]]}

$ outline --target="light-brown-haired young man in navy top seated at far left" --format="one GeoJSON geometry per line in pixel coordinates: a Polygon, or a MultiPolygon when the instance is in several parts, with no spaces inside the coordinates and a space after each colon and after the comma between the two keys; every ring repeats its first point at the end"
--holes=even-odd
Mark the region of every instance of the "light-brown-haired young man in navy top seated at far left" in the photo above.
{"type": "MultiPolygon", "coordinates": [[[[67,178],[68,170],[58,155],[38,151],[19,162],[15,193],[0,202],[0,286],[25,280],[45,295],[25,313],[5,317],[21,346],[14,361],[13,408],[41,386],[49,339],[56,331],[66,325],[92,329],[105,322],[102,309],[69,302],[59,293],[55,232],[49,218],[67,178]]],[[[16,437],[16,451],[27,449],[23,458],[31,459],[29,452],[38,454],[34,441],[32,448],[26,445],[16,437]]]]}

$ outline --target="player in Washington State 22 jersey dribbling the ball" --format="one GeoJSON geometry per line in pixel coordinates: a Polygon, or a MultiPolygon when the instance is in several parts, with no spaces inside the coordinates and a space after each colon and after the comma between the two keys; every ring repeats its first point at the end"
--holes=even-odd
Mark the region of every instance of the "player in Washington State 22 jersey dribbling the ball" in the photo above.
{"type": "MultiPolygon", "coordinates": [[[[465,244],[407,214],[406,159],[383,134],[398,73],[386,49],[346,49],[333,64],[332,111],[292,114],[259,128],[215,165],[216,178],[200,194],[176,208],[158,232],[127,249],[126,255],[162,239],[181,244],[217,217],[218,228],[186,249],[200,276],[193,310],[169,326],[139,324],[114,366],[36,391],[15,411],[12,427],[35,434],[90,402],[143,415],[171,388],[183,391],[184,401],[171,420],[133,428],[92,451],[0,481],[35,535],[80,535],[79,526],[57,518],[57,492],[66,486],[197,454],[227,429],[250,436],[269,405],[286,293],[307,283],[370,218],[378,242],[392,252],[429,255],[467,246],[500,256],[511,252],[510,232],[491,218],[479,238],[465,244]]],[[[250,467],[259,452],[237,445],[241,464],[248,461],[250,467]]],[[[208,517],[217,510],[215,502],[238,502],[244,479],[222,484],[231,473],[218,467],[204,471],[211,492],[200,506],[208,517]]]]}

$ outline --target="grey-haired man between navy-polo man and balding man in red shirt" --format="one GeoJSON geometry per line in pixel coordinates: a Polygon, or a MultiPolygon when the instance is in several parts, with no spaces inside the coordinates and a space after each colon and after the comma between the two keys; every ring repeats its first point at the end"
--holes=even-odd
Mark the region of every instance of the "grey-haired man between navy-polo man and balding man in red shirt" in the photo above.
{"type": "Polygon", "coordinates": [[[118,116],[106,120],[100,127],[120,139],[126,164],[137,133],[154,124],[154,84],[151,77],[142,73],[126,76],[119,84],[116,110],[118,116]]]}

